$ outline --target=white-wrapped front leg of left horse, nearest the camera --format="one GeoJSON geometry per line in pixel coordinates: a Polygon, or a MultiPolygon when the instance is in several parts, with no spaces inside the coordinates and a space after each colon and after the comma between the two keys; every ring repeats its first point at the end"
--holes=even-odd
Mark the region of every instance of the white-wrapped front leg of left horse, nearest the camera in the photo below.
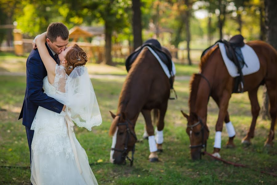
{"type": "Polygon", "coordinates": [[[149,150],[150,150],[149,161],[156,162],[158,161],[158,154],[157,154],[157,146],[156,146],[156,141],[154,136],[154,127],[152,125],[152,120],[151,120],[151,110],[142,109],[141,113],[143,114],[143,117],[145,119],[146,130],[148,134],[148,143],[149,143],[149,150]]]}

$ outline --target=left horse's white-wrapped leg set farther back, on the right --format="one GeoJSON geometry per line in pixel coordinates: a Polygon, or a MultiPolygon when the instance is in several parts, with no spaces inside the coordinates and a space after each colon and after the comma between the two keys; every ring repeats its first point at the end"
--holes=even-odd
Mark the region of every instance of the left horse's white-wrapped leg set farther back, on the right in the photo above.
{"type": "Polygon", "coordinates": [[[164,128],[164,117],[167,112],[167,101],[161,106],[159,114],[156,114],[155,117],[159,117],[156,128],[156,142],[159,152],[163,151],[163,128],[164,128]]]}

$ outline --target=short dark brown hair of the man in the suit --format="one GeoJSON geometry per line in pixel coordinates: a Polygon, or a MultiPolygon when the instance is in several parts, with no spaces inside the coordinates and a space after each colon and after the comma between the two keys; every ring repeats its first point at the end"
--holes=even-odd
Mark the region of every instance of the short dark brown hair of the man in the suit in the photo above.
{"type": "Polygon", "coordinates": [[[66,40],[69,38],[69,31],[63,23],[50,23],[47,28],[46,38],[53,43],[56,42],[57,37],[61,37],[62,40],[66,40]]]}

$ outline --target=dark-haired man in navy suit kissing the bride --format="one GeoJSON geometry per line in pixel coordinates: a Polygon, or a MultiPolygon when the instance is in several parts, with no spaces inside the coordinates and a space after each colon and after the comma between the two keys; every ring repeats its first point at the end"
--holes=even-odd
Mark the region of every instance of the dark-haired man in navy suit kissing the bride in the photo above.
{"type": "MultiPolygon", "coordinates": [[[[58,54],[66,48],[68,40],[69,31],[63,23],[51,23],[48,26],[45,45],[49,54],[57,64],[59,64],[58,54]]],[[[30,162],[31,144],[34,136],[34,130],[30,130],[30,128],[38,110],[38,106],[56,113],[61,113],[61,111],[65,109],[65,105],[43,93],[42,85],[45,76],[47,76],[46,68],[39,56],[38,49],[34,49],[30,52],[26,61],[27,84],[21,113],[18,118],[18,120],[23,118],[22,125],[26,127],[30,150],[30,162]]]]}

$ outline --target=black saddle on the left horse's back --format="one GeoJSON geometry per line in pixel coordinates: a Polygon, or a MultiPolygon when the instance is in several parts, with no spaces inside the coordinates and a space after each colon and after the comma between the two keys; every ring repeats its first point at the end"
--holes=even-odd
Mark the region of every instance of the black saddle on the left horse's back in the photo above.
{"type": "MultiPolygon", "coordinates": [[[[145,43],[143,43],[143,45],[138,47],[133,53],[131,53],[127,57],[127,59],[125,61],[125,67],[126,67],[127,72],[129,72],[129,70],[131,68],[131,65],[133,64],[133,62],[135,61],[135,59],[137,58],[139,53],[142,51],[143,47],[145,47],[145,46],[149,46],[149,47],[151,47],[155,51],[155,53],[159,56],[159,58],[162,60],[162,62],[164,64],[166,64],[170,74],[172,74],[171,57],[168,56],[167,53],[165,53],[162,50],[161,44],[156,39],[149,39],[149,40],[147,40],[145,43]]],[[[170,85],[171,85],[171,89],[172,89],[173,88],[173,79],[172,79],[172,76],[170,77],[169,80],[170,80],[170,85]]]]}

